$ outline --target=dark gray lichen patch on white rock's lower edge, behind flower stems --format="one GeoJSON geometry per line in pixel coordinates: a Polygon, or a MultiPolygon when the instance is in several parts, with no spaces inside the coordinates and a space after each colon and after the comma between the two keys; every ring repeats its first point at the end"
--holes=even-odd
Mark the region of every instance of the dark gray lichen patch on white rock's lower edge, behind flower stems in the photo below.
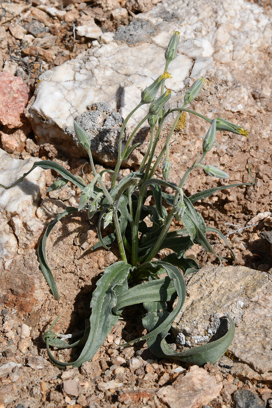
{"type": "MultiPolygon", "coordinates": [[[[94,158],[104,163],[114,163],[118,155],[118,140],[124,122],[118,112],[111,112],[108,104],[96,102],[87,106],[87,111],[76,116],[76,122],[87,132],[94,158]]],[[[64,132],[71,135],[78,144],[72,126],[64,126],[64,132]]],[[[125,133],[124,133],[125,138],[125,133]]]]}

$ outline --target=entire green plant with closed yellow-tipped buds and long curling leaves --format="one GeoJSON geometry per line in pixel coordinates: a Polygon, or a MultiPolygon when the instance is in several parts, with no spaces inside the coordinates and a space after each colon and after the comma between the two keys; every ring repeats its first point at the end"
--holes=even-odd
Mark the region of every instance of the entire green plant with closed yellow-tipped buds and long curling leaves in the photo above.
{"type": "MultiPolygon", "coordinates": [[[[216,228],[205,225],[203,218],[196,211],[193,203],[209,197],[221,189],[252,185],[254,182],[252,179],[252,183],[214,187],[197,192],[190,197],[186,197],[183,193],[183,186],[194,169],[203,169],[211,177],[223,179],[229,177],[225,171],[209,164],[203,164],[206,155],[215,143],[216,131],[230,131],[245,136],[247,136],[248,132],[222,118],[206,118],[204,115],[189,109],[190,104],[202,89],[203,78],[196,80],[185,93],[181,108],[177,107],[166,110],[165,104],[171,97],[170,89],[165,90],[165,81],[171,78],[167,69],[170,62],[176,58],[178,40],[179,33],[175,31],[165,51],[166,63],[164,72],[142,91],[139,104],[129,113],[123,122],[118,141],[116,166],[114,171],[109,170],[113,173],[110,188],[106,188],[102,180],[103,172],[97,173],[91,154],[90,138],[77,122],[74,123],[76,137],[80,146],[89,155],[92,180],[87,180],[83,169],[82,177],[76,177],[60,164],[44,160],[35,162],[33,167],[11,186],[7,187],[1,184],[3,188],[11,188],[20,183],[36,166],[39,166],[42,169],[53,169],[61,176],[47,191],[62,188],[68,182],[73,183],[81,191],[78,207],[67,207],[65,211],[59,213],[56,219],[52,220],[47,226],[38,246],[38,257],[42,273],[56,299],[59,299],[58,289],[45,255],[46,240],[56,222],[76,211],[87,211],[89,219],[92,219],[98,213],[97,234],[99,240],[92,249],[99,247],[109,249],[114,241],[118,244],[120,260],[107,267],[102,277],[98,280],[91,298],[91,316],[89,322],[82,333],[72,336],[73,338],[77,336],[79,339],[72,344],[68,344],[63,339],[60,339],[60,336],[52,331],[58,318],[53,322],[50,329],[44,333],[43,338],[47,344],[48,355],[59,367],[70,365],[78,367],[85,361],[91,360],[103,344],[108,333],[111,332],[112,327],[118,321],[123,308],[139,303],[143,303],[147,312],[142,319],[143,327],[147,330],[147,334],[131,341],[129,344],[139,340],[147,340],[150,350],[158,357],[174,358],[198,365],[203,365],[207,361],[212,363],[225,353],[234,337],[234,322],[230,317],[226,317],[230,324],[227,333],[221,339],[205,346],[190,348],[178,353],[165,340],[171,324],[180,312],[185,300],[184,276],[190,273],[197,273],[199,268],[194,259],[186,258],[186,251],[193,244],[200,244],[207,251],[215,254],[207,240],[207,231],[218,233],[228,245],[223,234],[216,230],[216,228]],[[158,93],[160,95],[157,97],[158,93]],[[125,126],[134,112],[144,104],[149,104],[148,113],[129,135],[124,146],[125,126]],[[210,128],[205,137],[203,137],[202,154],[198,154],[194,163],[185,171],[177,185],[169,181],[169,171],[171,168],[169,145],[175,129],[182,129],[184,127],[187,112],[203,118],[203,120],[210,124],[210,128]],[[176,118],[172,128],[161,152],[156,157],[156,160],[154,160],[155,148],[165,119],[169,114],[173,113],[176,115],[176,118]],[[150,139],[142,163],[138,171],[125,175],[116,184],[122,162],[138,146],[138,144],[131,146],[131,142],[145,120],[148,121],[150,126],[150,139]],[[153,177],[159,166],[161,166],[163,179],[153,177]],[[171,188],[173,193],[165,193],[166,187],[171,188]],[[147,202],[149,196],[152,196],[153,204],[147,202]],[[167,211],[163,203],[165,203],[167,208],[170,207],[171,209],[167,211]],[[146,217],[149,217],[149,220],[152,222],[151,226],[145,221],[146,217]],[[183,228],[169,232],[174,218],[182,221],[183,228]],[[101,227],[105,229],[107,226],[111,227],[112,232],[103,237],[101,227]],[[163,248],[167,248],[172,252],[162,260],[154,260],[154,257],[163,248]],[[162,273],[167,273],[167,276],[160,278],[159,275],[162,273]],[[176,297],[178,297],[177,306],[174,310],[170,310],[167,302],[173,301],[176,297]],[[69,363],[58,361],[50,350],[50,346],[71,348],[78,345],[83,345],[82,351],[76,361],[69,363]]],[[[232,255],[234,256],[233,252],[232,255]]],[[[219,255],[216,256],[219,259],[225,260],[219,255]]],[[[125,345],[122,344],[122,346],[125,345]]]]}

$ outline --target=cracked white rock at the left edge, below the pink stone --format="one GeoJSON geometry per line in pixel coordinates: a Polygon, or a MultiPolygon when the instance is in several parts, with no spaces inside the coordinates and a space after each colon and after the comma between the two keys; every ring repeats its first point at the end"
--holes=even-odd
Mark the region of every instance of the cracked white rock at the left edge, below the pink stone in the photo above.
{"type": "MultiPolygon", "coordinates": [[[[13,159],[0,149],[0,183],[9,186],[29,171],[37,160],[13,159]]],[[[0,268],[7,269],[20,248],[34,248],[43,231],[36,217],[40,194],[45,191],[46,171],[36,167],[17,186],[0,187],[0,268]]]]}

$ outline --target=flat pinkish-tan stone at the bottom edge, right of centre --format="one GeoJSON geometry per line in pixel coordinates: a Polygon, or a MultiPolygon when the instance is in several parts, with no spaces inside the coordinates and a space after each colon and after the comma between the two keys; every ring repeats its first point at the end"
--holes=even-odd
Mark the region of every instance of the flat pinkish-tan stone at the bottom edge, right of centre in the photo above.
{"type": "Polygon", "coordinates": [[[156,395],[170,408],[200,408],[216,398],[222,387],[219,376],[192,366],[184,377],[178,376],[172,385],[160,388],[156,395]]]}

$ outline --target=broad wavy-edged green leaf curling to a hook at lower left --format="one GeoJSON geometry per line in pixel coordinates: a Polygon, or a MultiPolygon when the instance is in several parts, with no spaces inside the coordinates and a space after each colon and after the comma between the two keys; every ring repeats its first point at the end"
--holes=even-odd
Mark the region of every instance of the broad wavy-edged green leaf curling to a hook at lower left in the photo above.
{"type": "MultiPolygon", "coordinates": [[[[105,269],[96,284],[91,299],[91,317],[89,336],[78,359],[74,362],[62,362],[55,359],[49,349],[49,337],[46,338],[47,353],[58,366],[80,367],[85,361],[91,361],[99,347],[105,341],[112,327],[118,322],[119,316],[112,312],[117,297],[127,290],[127,275],[133,267],[124,261],[116,262],[105,269]]],[[[52,330],[52,326],[49,331],[52,330]]]]}

